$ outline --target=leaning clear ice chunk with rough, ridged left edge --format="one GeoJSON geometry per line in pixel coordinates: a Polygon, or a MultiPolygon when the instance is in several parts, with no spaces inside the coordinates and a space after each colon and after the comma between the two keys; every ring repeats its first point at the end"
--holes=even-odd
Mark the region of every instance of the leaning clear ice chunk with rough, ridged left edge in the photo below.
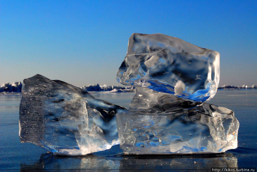
{"type": "Polygon", "coordinates": [[[42,75],[24,79],[19,135],[55,155],[85,155],[119,144],[115,114],[127,110],[42,75]]]}

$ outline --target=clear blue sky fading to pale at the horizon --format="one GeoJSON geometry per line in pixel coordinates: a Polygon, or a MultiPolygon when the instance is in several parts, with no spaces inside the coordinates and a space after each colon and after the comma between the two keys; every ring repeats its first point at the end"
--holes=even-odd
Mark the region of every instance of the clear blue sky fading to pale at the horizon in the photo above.
{"type": "Polygon", "coordinates": [[[257,84],[256,0],[0,0],[0,84],[39,73],[80,87],[118,85],[132,33],[220,52],[220,86],[257,84]]]}

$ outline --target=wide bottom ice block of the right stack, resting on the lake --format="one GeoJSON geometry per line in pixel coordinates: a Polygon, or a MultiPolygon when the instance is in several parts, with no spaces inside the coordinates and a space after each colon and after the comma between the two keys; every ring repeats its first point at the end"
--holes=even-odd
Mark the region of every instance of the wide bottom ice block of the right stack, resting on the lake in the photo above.
{"type": "MultiPolygon", "coordinates": [[[[183,104],[183,100],[180,102],[183,104]]],[[[160,104],[157,103],[155,107],[168,107],[168,104],[160,104]]],[[[237,147],[239,123],[233,111],[207,103],[195,108],[191,104],[188,108],[186,104],[183,108],[174,104],[170,106],[171,109],[160,108],[157,113],[152,106],[150,109],[117,113],[117,128],[123,152],[220,153],[237,147]]]]}

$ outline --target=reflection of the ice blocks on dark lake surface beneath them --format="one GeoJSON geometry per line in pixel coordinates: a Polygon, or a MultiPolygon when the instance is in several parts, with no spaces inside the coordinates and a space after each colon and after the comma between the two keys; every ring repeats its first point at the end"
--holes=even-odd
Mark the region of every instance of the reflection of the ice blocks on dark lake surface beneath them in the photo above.
{"type": "MultiPolygon", "coordinates": [[[[114,146],[115,147],[115,146],[114,146]]],[[[111,148],[112,149],[112,148],[111,148]]],[[[85,155],[77,157],[57,157],[42,154],[37,163],[21,164],[20,171],[28,170],[210,170],[215,167],[238,167],[237,158],[231,154],[214,155],[85,155]]]]}

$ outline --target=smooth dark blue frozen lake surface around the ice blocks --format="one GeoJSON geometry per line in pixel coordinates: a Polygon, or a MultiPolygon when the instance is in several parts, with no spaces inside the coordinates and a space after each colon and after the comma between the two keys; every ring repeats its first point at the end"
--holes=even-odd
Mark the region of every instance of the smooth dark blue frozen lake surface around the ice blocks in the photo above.
{"type": "MultiPolygon", "coordinates": [[[[129,107],[135,93],[91,93],[129,107]]],[[[211,167],[256,167],[257,89],[218,90],[208,103],[234,111],[240,123],[238,148],[206,155],[124,155],[119,145],[86,156],[53,156],[32,143],[19,142],[19,102],[21,95],[0,95],[0,170],[27,171],[206,171],[211,167]]]]}

